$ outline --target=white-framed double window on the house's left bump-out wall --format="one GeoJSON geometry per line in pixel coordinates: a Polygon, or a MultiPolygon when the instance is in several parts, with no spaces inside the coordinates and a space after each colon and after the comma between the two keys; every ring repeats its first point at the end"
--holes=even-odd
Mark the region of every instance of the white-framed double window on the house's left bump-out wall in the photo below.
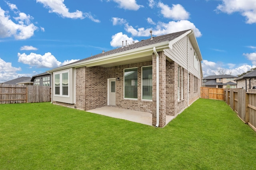
{"type": "Polygon", "coordinates": [[[69,96],[69,71],[54,73],[54,95],[69,96]]]}

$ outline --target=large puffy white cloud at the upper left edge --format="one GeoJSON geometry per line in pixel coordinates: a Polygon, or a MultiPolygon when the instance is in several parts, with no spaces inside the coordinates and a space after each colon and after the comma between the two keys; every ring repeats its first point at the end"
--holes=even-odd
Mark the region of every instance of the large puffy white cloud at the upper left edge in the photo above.
{"type": "MultiPolygon", "coordinates": [[[[10,5],[9,5],[10,6],[10,5]]],[[[11,6],[12,9],[14,6],[11,6]]],[[[18,23],[14,23],[14,21],[10,20],[10,16],[5,14],[6,12],[2,10],[0,7],[0,37],[12,37],[14,36],[15,39],[28,39],[34,35],[34,31],[38,29],[31,20],[33,17],[30,15],[26,15],[23,12],[16,12],[18,17],[14,17],[14,19],[18,23]]]]}

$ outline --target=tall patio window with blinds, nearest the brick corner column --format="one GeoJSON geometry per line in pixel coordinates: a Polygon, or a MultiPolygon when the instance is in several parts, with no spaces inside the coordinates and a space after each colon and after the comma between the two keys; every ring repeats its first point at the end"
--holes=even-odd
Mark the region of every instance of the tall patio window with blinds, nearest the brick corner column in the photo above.
{"type": "Polygon", "coordinates": [[[143,66],[142,70],[142,100],[152,100],[152,66],[143,66]]]}

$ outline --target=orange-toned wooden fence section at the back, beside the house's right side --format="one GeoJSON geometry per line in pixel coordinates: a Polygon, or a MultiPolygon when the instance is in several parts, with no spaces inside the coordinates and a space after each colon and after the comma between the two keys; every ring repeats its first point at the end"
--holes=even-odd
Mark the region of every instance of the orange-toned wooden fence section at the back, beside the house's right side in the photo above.
{"type": "Polygon", "coordinates": [[[200,88],[200,98],[224,100],[224,89],[223,88],[201,87],[200,88]]]}

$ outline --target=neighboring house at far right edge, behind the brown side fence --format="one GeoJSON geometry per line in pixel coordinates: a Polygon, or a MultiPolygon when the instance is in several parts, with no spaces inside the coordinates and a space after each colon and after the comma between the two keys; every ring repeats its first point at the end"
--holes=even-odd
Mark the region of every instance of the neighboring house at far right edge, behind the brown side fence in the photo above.
{"type": "Polygon", "coordinates": [[[256,70],[252,70],[251,72],[248,72],[247,74],[236,78],[235,81],[237,82],[237,88],[246,89],[246,92],[248,92],[248,89],[255,89],[256,70]]]}

